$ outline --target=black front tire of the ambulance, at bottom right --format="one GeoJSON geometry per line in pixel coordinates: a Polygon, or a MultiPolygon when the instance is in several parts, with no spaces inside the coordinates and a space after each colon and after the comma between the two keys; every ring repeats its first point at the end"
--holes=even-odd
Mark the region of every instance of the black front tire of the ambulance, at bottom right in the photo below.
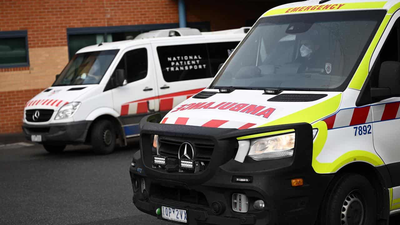
{"type": "Polygon", "coordinates": [[[359,174],[345,173],[328,189],[317,224],[374,225],[376,205],[376,192],[368,179],[359,174]]]}

